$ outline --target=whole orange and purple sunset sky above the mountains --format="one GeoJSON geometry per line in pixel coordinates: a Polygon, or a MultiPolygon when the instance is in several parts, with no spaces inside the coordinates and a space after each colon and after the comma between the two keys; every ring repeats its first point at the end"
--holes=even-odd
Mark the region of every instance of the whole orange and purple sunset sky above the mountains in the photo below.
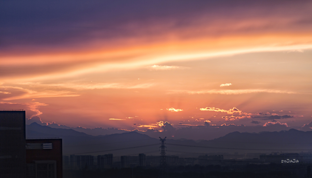
{"type": "Polygon", "coordinates": [[[156,138],[311,131],[311,11],[311,1],[1,1],[0,109],[156,138]]]}

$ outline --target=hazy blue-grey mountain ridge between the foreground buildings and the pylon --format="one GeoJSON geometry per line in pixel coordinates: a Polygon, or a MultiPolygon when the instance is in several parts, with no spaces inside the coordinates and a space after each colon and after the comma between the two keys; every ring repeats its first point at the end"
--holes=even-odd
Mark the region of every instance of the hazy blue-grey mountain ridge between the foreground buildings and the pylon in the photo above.
{"type": "MultiPolygon", "coordinates": [[[[117,155],[127,155],[149,151],[151,147],[141,147],[136,149],[126,149],[121,151],[97,152],[119,148],[129,148],[142,145],[159,143],[158,139],[151,138],[145,134],[137,132],[126,132],[121,134],[110,134],[92,136],[72,129],[55,129],[48,126],[41,126],[37,123],[26,125],[27,138],[59,137],[63,139],[63,154],[87,154],[99,155],[113,153],[117,155]],[[92,152],[92,153],[89,153],[92,152]]],[[[158,150],[158,145],[152,149],[158,150]]]]}

